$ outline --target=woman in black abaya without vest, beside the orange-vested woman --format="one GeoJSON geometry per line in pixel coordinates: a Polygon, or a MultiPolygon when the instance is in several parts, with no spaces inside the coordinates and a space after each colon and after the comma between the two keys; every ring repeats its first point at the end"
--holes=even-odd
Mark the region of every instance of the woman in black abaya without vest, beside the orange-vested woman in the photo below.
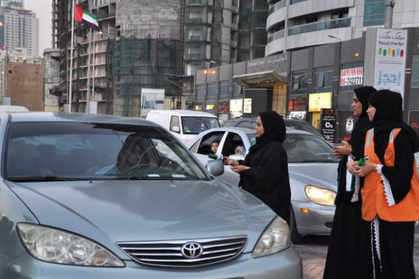
{"type": "MultiPolygon", "coordinates": [[[[365,135],[372,128],[367,116],[368,99],[376,89],[361,86],[354,89],[351,104],[353,116],[358,117],[348,142],[333,148],[335,157],[340,158],[338,166],[335,217],[333,218],[328,255],[323,279],[371,278],[371,266],[363,260],[365,241],[369,239],[369,223],[362,220],[360,188],[364,178],[354,175],[351,169],[354,160],[364,157],[365,135]]],[[[368,252],[368,251],[367,251],[368,252]]]]}

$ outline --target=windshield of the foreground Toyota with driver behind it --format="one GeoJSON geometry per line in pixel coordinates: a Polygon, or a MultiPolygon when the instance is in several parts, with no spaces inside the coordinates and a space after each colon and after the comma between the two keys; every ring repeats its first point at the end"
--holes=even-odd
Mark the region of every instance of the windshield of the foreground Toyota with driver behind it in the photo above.
{"type": "Polygon", "coordinates": [[[10,181],[207,179],[163,129],[108,123],[10,123],[3,173],[10,181]]]}

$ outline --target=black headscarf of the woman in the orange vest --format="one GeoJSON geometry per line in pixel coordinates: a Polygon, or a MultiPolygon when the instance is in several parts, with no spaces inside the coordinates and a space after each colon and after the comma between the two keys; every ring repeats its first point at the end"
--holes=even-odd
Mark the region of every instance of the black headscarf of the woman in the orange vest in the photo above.
{"type": "Polygon", "coordinates": [[[374,151],[384,164],[388,137],[394,128],[402,128],[409,136],[413,152],[419,151],[419,138],[413,128],[404,123],[402,95],[390,90],[379,90],[371,95],[369,104],[376,108],[374,114],[374,151]]]}

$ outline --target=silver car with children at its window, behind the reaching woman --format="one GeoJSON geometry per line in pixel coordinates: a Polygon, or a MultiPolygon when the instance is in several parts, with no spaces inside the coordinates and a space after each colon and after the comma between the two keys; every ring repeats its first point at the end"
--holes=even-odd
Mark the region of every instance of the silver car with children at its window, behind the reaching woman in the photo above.
{"type": "MultiPolygon", "coordinates": [[[[250,146],[256,142],[255,130],[238,127],[214,128],[200,133],[187,147],[205,164],[210,158],[210,144],[219,140],[217,155],[244,160],[250,146]],[[232,155],[236,146],[244,146],[243,155],[232,155]]],[[[284,148],[288,155],[288,173],[291,184],[290,228],[294,243],[307,234],[328,235],[335,215],[337,193],[337,160],[332,147],[311,133],[287,128],[284,148]]],[[[219,178],[238,185],[239,175],[224,166],[219,178]]]]}

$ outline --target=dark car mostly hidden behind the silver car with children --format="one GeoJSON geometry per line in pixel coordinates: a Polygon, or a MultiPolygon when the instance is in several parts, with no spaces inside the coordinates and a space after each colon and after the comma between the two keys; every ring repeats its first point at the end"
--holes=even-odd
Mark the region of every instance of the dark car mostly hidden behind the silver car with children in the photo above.
{"type": "MultiPolygon", "coordinates": [[[[223,127],[242,127],[242,128],[254,129],[256,126],[256,119],[257,117],[244,117],[244,118],[230,119],[224,123],[223,127]]],[[[321,137],[322,139],[325,139],[325,137],[323,137],[323,135],[316,128],[311,126],[311,124],[308,123],[307,121],[302,121],[299,119],[292,119],[292,118],[284,118],[284,121],[285,121],[285,126],[287,127],[294,128],[296,130],[304,130],[315,135],[316,137],[321,137]]]]}

